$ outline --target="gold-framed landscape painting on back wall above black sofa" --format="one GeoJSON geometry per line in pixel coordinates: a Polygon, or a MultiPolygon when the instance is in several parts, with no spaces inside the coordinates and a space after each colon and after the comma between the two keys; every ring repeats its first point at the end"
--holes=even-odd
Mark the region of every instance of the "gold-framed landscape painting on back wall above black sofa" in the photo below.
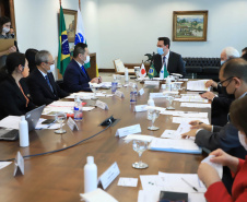
{"type": "Polygon", "coordinates": [[[207,41],[208,11],[174,11],[174,41],[207,41]]]}

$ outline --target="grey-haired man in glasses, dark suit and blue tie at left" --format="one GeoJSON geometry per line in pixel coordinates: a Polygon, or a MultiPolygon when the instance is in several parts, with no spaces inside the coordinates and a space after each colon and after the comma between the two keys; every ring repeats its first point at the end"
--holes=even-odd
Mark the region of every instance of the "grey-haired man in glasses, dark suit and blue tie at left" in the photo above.
{"type": "Polygon", "coordinates": [[[55,82],[51,73],[55,70],[55,61],[51,54],[47,50],[38,51],[35,55],[35,62],[37,68],[27,79],[34,103],[38,106],[49,105],[54,100],[68,96],[69,94],[55,82]]]}

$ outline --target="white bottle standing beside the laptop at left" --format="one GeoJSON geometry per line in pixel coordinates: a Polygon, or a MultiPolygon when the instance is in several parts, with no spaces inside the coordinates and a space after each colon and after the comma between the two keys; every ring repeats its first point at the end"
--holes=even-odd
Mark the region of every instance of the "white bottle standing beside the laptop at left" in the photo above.
{"type": "Polygon", "coordinates": [[[19,135],[20,135],[20,146],[26,147],[30,145],[28,138],[28,123],[25,116],[21,116],[21,121],[19,122],[19,135]]]}

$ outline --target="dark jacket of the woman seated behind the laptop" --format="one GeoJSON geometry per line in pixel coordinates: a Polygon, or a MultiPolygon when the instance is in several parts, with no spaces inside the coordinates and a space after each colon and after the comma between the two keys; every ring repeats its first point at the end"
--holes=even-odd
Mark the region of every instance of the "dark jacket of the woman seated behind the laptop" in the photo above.
{"type": "Polygon", "coordinates": [[[0,84],[0,119],[12,115],[22,116],[34,109],[36,106],[33,104],[28,88],[24,82],[20,82],[24,91],[24,94],[30,98],[30,103],[26,107],[26,99],[23,96],[20,87],[15,83],[12,76],[8,76],[0,84]]]}

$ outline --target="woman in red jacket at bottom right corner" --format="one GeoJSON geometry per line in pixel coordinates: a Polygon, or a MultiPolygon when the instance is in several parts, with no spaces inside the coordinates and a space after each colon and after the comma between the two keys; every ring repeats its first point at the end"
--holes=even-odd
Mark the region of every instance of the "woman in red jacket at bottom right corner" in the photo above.
{"type": "MultiPolygon", "coordinates": [[[[238,129],[238,138],[240,144],[247,150],[247,96],[233,102],[230,108],[230,117],[232,123],[238,129]]],[[[199,178],[208,188],[205,199],[208,202],[244,202],[247,201],[247,156],[244,159],[231,156],[222,150],[216,150],[210,155],[212,163],[222,164],[232,170],[234,183],[232,195],[228,194],[226,188],[216,170],[209,164],[202,163],[198,169],[199,178]]]]}

